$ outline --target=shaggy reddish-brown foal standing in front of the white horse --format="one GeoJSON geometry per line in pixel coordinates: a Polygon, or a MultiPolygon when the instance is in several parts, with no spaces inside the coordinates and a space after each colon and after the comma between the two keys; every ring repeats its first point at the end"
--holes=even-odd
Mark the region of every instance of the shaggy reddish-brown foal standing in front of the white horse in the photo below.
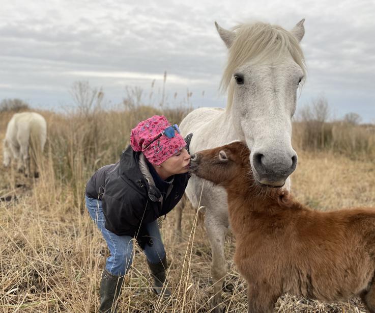
{"type": "Polygon", "coordinates": [[[235,264],[249,312],[272,312],[284,293],[323,301],[361,296],[375,312],[375,208],[319,212],[254,182],[243,142],[192,156],[191,172],[228,193],[235,264]]]}

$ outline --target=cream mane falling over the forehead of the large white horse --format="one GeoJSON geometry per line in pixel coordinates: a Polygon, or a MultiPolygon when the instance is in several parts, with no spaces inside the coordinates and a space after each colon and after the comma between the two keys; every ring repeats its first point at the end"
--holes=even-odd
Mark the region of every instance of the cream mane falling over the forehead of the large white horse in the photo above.
{"type": "Polygon", "coordinates": [[[281,53],[289,51],[294,61],[306,74],[305,59],[296,37],[278,25],[256,22],[253,24],[240,24],[233,28],[236,38],[229,48],[229,57],[224,70],[220,88],[228,89],[227,108],[232,106],[234,80],[236,68],[242,66],[250,59],[259,61],[269,57],[279,57],[281,53]]]}

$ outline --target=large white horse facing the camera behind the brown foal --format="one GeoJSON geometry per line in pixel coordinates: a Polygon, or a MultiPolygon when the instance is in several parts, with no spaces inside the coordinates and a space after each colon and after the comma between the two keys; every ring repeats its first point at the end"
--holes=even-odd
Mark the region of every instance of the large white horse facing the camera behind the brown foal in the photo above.
{"type": "MultiPolygon", "coordinates": [[[[297,164],[292,148],[292,117],[297,89],[305,76],[299,42],[305,31],[302,19],[292,31],[257,22],[229,31],[216,22],[229,50],[221,87],[228,89],[226,109],[199,108],[181,122],[183,134],[193,133],[190,152],[244,140],[251,150],[250,164],[258,184],[290,188],[289,175],[297,164]]],[[[246,174],[246,173],[244,173],[246,174]]],[[[226,192],[196,176],[186,194],[194,207],[205,207],[205,226],[212,249],[214,312],[220,312],[226,266],[224,237],[228,230],[226,192]],[[203,192],[201,192],[203,189],[203,192]],[[201,199],[200,199],[201,195],[201,199]]]]}

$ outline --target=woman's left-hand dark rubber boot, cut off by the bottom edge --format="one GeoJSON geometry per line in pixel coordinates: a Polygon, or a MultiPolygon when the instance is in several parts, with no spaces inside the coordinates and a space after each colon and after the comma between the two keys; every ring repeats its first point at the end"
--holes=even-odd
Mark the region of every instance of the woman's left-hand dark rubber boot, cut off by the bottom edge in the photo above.
{"type": "Polygon", "coordinates": [[[100,282],[100,313],[116,313],[116,300],[120,296],[121,287],[125,276],[112,275],[104,269],[100,282]],[[114,305],[113,305],[114,304],[114,305]],[[113,305],[113,307],[112,307],[113,305]]]}

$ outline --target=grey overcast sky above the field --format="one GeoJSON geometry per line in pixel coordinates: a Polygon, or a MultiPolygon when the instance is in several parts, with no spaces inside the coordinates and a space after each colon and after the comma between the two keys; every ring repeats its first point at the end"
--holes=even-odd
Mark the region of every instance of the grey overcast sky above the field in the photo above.
{"type": "Polygon", "coordinates": [[[356,112],[375,122],[373,0],[0,4],[0,99],[59,110],[72,104],[74,82],[89,81],[103,88],[109,104],[122,101],[126,86],[141,87],[143,101],[157,103],[167,71],[170,105],[186,101],[188,89],[194,107],[224,107],[218,87],[227,51],[214,21],[227,29],[255,20],[292,29],[305,18],[308,76],[298,107],[324,96],[332,118],[356,112]]]}

